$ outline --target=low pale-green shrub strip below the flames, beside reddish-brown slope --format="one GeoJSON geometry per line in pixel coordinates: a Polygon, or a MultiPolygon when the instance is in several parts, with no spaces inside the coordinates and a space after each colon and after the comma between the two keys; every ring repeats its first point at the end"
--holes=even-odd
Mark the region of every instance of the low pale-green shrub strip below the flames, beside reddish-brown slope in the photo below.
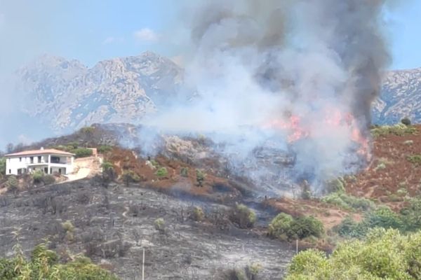
{"type": "Polygon", "coordinates": [[[330,193],[321,199],[321,202],[332,204],[346,210],[367,211],[375,208],[374,202],[364,197],[354,197],[346,193],[330,193]]]}

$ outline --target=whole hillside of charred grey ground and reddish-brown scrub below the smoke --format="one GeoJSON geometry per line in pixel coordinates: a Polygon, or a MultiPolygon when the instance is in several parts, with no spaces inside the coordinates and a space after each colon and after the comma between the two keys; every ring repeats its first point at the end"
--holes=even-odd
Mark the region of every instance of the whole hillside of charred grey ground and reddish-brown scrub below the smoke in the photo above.
{"type": "MultiPolygon", "coordinates": [[[[369,226],[366,219],[381,215],[382,207],[390,207],[396,211],[394,215],[418,213],[406,207],[421,193],[421,126],[375,127],[373,161],[365,170],[335,181],[330,189],[333,193],[326,197],[295,199],[260,197],[253,183],[232,176],[217,159],[189,158],[184,148],[165,146],[156,158],[142,158],[138,149],[121,148],[115,138],[116,131],[130,138],[133,130],[131,125],[97,125],[37,144],[112,145],[102,148],[101,156],[112,167],[114,179],[107,171],[93,179],[52,186],[27,188],[31,182],[26,180],[20,193],[1,195],[1,253],[11,253],[15,244],[12,232],[20,225],[23,248],[29,250],[48,237],[62,260],[83,253],[122,279],[139,275],[142,248],[147,255],[146,275],[153,279],[163,275],[227,279],[232,269],[256,263],[262,266],[260,279],[282,279],[297,237],[270,234],[269,224],[278,214],[297,219],[295,226],[300,227],[306,227],[299,224],[306,223],[306,218],[321,221],[324,233],[300,237],[299,248],[330,251],[346,238],[338,228],[343,230],[349,223],[369,226]],[[254,211],[253,227],[234,218],[239,203],[254,211]],[[159,218],[163,229],[156,224],[159,218]],[[66,221],[72,224],[71,232],[65,229],[66,221]]],[[[189,141],[194,153],[209,145],[203,139],[189,141]]],[[[399,217],[388,215],[377,218],[389,221],[399,217]]],[[[408,217],[401,216],[396,226],[406,225],[408,217]]],[[[376,223],[382,226],[384,222],[376,223]]],[[[410,226],[417,227],[418,222],[410,226]]]]}

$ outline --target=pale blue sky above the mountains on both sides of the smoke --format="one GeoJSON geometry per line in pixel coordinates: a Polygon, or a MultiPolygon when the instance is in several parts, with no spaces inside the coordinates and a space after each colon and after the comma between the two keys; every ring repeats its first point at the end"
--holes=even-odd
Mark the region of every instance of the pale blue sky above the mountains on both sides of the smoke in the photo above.
{"type": "MultiPolygon", "coordinates": [[[[192,0],[183,0],[192,1],[192,0]]],[[[421,1],[401,1],[385,16],[391,69],[421,66],[421,1]]],[[[187,36],[177,0],[0,0],[0,73],[50,53],[92,66],[153,50],[182,53],[187,36]]]]}

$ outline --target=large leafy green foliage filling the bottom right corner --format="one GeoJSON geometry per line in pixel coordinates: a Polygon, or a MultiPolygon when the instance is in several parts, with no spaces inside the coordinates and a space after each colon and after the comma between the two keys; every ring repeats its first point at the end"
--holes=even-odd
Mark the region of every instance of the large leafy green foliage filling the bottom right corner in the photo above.
{"type": "Polygon", "coordinates": [[[421,279],[421,232],[405,236],[377,228],[363,241],[340,244],[329,257],[314,249],[302,251],[286,279],[421,279]]]}

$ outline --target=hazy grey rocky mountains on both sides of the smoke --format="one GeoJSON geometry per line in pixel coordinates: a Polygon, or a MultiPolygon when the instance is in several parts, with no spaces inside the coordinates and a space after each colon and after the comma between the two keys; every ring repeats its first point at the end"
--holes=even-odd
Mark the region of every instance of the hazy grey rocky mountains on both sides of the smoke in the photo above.
{"type": "MultiPolygon", "coordinates": [[[[98,62],[44,55],[17,71],[22,111],[55,132],[92,123],[138,123],[180,92],[183,69],[171,59],[144,52],[98,62]]],[[[373,104],[373,123],[403,117],[421,122],[421,69],[387,71],[373,104]]]]}

